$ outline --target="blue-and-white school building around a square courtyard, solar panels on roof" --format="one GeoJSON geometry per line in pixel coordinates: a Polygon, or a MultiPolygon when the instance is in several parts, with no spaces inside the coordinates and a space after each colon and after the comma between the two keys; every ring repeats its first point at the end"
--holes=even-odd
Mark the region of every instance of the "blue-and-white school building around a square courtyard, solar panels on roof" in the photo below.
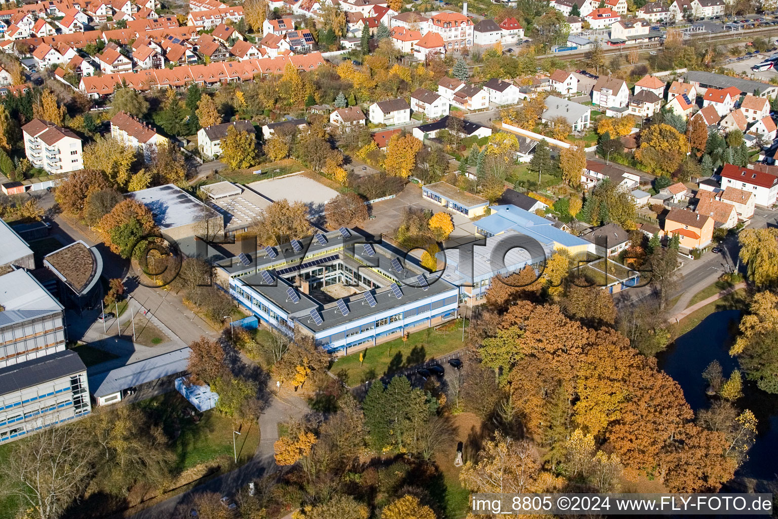
{"type": "Polygon", "coordinates": [[[457,286],[370,241],[344,228],[220,261],[216,275],[261,322],[330,352],[456,316],[457,286]]]}

